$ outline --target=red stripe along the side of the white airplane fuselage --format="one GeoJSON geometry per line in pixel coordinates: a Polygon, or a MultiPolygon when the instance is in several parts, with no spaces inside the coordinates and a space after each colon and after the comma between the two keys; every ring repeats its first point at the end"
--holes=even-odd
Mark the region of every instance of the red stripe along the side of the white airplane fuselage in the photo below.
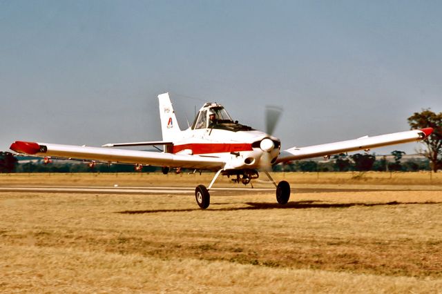
{"type": "Polygon", "coordinates": [[[172,153],[179,153],[182,150],[190,149],[192,154],[207,154],[207,153],[231,153],[238,151],[251,151],[251,144],[247,143],[193,143],[193,144],[183,144],[174,145],[172,153]]]}

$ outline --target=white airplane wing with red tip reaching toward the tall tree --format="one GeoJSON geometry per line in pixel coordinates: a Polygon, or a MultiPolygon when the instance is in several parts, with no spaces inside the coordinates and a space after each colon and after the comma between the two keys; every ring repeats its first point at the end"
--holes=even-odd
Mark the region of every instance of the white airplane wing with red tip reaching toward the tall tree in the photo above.
{"type": "Polygon", "coordinates": [[[405,132],[379,135],[374,137],[365,136],[359,139],[339,141],[329,144],[321,144],[300,148],[293,147],[282,150],[276,163],[320,156],[329,156],[351,151],[367,150],[381,146],[401,144],[413,141],[421,141],[428,137],[432,133],[432,131],[432,128],[423,128],[421,130],[407,130],[405,132]]]}

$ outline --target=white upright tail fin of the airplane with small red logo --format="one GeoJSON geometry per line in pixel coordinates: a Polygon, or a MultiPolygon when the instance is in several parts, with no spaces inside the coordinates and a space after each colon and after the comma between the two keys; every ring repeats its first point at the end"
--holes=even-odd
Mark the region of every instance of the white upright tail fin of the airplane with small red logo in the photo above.
{"type": "Polygon", "coordinates": [[[169,93],[158,95],[158,101],[160,104],[160,119],[161,130],[163,134],[163,141],[173,141],[176,139],[176,135],[180,133],[180,126],[178,126],[177,117],[169,98],[169,93]]]}

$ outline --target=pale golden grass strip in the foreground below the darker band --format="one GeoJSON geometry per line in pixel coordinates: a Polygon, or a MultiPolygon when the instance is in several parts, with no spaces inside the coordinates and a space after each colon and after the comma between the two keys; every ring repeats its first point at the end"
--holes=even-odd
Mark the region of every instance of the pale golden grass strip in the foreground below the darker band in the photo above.
{"type": "Polygon", "coordinates": [[[2,246],[0,289],[8,293],[438,293],[413,277],[268,268],[198,259],[72,248],[2,246]]]}

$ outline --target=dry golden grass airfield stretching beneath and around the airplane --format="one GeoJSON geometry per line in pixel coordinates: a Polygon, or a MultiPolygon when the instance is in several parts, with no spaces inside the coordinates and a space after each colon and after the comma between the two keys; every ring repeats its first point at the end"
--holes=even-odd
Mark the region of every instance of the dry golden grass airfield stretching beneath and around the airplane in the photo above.
{"type": "MultiPolygon", "coordinates": [[[[1,174],[0,186],[212,176],[1,174]]],[[[291,183],[287,206],[273,190],[213,190],[207,210],[192,194],[0,192],[0,291],[442,293],[442,174],[273,176],[291,183]]]]}

